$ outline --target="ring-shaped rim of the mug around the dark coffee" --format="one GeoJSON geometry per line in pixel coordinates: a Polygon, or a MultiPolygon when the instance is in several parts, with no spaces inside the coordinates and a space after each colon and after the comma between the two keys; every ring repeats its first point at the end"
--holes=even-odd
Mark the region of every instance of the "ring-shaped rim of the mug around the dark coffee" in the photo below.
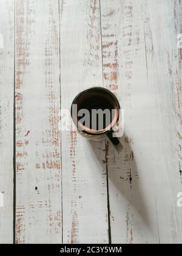
{"type": "Polygon", "coordinates": [[[89,135],[93,135],[93,136],[94,135],[103,135],[104,133],[107,133],[109,130],[111,130],[116,125],[116,123],[118,123],[118,120],[120,118],[120,109],[121,109],[120,103],[119,103],[118,99],[116,98],[115,94],[112,93],[112,91],[108,90],[107,88],[103,88],[103,87],[90,87],[90,88],[87,88],[86,90],[83,90],[80,93],[78,93],[76,95],[76,97],[73,99],[73,102],[71,105],[71,116],[72,116],[73,123],[75,124],[75,126],[77,127],[78,130],[80,130],[79,128],[81,128],[82,132],[87,133],[89,135]],[[72,115],[72,106],[74,104],[76,104],[76,101],[78,101],[79,97],[81,97],[81,95],[83,93],[86,93],[87,91],[94,91],[94,90],[105,91],[113,98],[113,101],[115,102],[114,109],[116,110],[116,112],[115,112],[115,116],[113,117],[112,122],[109,124],[109,126],[107,126],[104,129],[100,129],[100,130],[93,130],[87,126],[83,126],[83,124],[79,124],[78,120],[77,120],[77,124],[75,124],[75,121],[74,121],[73,115],[72,115]]]}

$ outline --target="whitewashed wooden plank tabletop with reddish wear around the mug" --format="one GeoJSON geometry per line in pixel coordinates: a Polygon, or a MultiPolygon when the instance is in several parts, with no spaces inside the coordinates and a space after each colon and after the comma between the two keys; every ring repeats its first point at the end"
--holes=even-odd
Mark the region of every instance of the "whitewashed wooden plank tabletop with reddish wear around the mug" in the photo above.
{"type": "Polygon", "coordinates": [[[0,243],[182,243],[181,18],[179,0],[1,0],[0,243]],[[124,108],[120,154],[60,130],[91,86],[124,108]]]}

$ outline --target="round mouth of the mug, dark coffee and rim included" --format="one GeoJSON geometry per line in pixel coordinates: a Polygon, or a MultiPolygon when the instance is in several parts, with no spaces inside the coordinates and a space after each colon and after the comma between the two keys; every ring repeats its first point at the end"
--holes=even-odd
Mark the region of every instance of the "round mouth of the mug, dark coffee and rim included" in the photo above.
{"type": "Polygon", "coordinates": [[[83,132],[98,135],[107,132],[118,122],[120,104],[116,96],[105,88],[93,87],[82,91],[73,100],[73,105],[77,106],[76,112],[73,113],[71,110],[73,122],[83,132]],[[90,114],[89,125],[87,125],[87,122],[81,122],[83,121],[83,116],[79,116],[79,113],[82,110],[86,110],[90,114]],[[101,126],[99,126],[101,117],[99,118],[98,115],[96,119],[95,115],[95,118],[93,118],[93,111],[100,110],[103,110],[103,113],[106,115],[108,113],[108,118],[106,118],[106,115],[103,115],[101,126]]]}

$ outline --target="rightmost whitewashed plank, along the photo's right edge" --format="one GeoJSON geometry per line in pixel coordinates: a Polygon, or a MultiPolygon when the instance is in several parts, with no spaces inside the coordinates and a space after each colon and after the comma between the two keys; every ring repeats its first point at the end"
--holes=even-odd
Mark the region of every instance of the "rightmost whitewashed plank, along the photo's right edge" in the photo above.
{"type": "Polygon", "coordinates": [[[181,208],[177,194],[181,179],[181,1],[144,3],[148,88],[153,137],[153,175],[161,243],[181,243],[181,208]],[[154,18],[155,17],[155,18],[154,18]],[[154,150],[155,149],[155,150],[154,150]],[[154,162],[154,163],[153,163],[154,162]]]}

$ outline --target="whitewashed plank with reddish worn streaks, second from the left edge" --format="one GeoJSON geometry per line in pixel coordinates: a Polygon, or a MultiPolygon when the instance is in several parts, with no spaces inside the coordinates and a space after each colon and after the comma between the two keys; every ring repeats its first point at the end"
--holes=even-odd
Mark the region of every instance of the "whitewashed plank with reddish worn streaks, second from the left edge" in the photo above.
{"type": "Polygon", "coordinates": [[[16,1],[16,243],[61,243],[58,1],[16,1]]]}

